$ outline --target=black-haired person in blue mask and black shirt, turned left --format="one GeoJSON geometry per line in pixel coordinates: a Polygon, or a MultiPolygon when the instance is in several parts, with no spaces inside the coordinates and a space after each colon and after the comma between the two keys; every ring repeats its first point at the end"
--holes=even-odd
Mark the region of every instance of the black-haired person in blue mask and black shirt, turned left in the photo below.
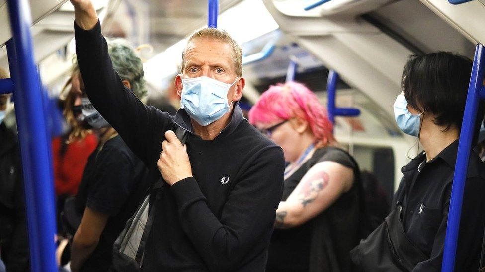
{"type": "MultiPolygon", "coordinates": [[[[402,168],[386,221],[351,251],[359,271],[441,271],[458,137],[472,62],[446,52],[411,56],[394,103],[401,130],[424,151],[402,168]]],[[[479,106],[475,131],[483,121],[479,106]]],[[[485,166],[470,153],[456,271],[478,271],[485,225],[485,166]]]]}

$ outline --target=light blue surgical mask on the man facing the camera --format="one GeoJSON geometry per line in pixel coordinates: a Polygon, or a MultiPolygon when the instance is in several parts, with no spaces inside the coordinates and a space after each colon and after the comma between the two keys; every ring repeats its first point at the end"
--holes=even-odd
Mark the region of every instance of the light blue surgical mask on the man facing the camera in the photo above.
{"type": "Polygon", "coordinates": [[[182,79],[180,108],[201,126],[209,125],[229,112],[227,94],[237,80],[228,84],[206,76],[182,79]]]}

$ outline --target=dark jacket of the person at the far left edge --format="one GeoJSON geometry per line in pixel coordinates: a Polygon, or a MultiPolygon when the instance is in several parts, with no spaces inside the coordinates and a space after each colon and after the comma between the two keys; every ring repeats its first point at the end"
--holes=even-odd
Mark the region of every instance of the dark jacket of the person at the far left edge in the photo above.
{"type": "Polygon", "coordinates": [[[29,271],[28,234],[17,136],[0,125],[0,251],[7,271],[29,271]]]}

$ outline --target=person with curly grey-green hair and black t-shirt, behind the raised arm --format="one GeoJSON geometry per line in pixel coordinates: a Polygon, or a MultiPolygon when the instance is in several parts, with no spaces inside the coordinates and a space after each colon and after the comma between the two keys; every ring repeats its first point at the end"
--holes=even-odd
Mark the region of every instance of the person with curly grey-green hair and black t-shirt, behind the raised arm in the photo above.
{"type": "MultiPolygon", "coordinates": [[[[118,41],[110,43],[108,54],[121,84],[143,99],[147,90],[140,58],[118,41]]],[[[73,80],[79,80],[80,89],[87,91],[81,76],[73,80]]],[[[148,169],[85,95],[81,103],[78,120],[99,135],[99,144],[87,160],[74,202],[82,219],[72,242],[71,270],[101,272],[111,266],[113,243],[146,195],[148,169]]]]}

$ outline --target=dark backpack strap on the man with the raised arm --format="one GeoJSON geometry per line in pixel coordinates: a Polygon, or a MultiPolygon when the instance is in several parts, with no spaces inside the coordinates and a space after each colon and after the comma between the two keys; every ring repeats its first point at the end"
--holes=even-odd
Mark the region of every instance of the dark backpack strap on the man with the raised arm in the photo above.
{"type": "MultiPolygon", "coordinates": [[[[177,128],[175,129],[175,135],[180,140],[182,145],[185,145],[185,142],[187,141],[187,131],[180,126],[177,126],[177,128]]],[[[157,182],[152,185],[152,187],[150,188],[150,198],[155,198],[155,201],[153,201],[152,203],[155,203],[157,200],[160,199],[160,192],[164,185],[165,181],[162,177],[160,177],[157,182]]],[[[140,240],[140,245],[138,246],[137,255],[135,257],[135,261],[140,264],[140,266],[142,265],[143,255],[145,253],[145,245],[147,244],[148,235],[150,234],[150,229],[152,228],[153,224],[153,218],[155,217],[155,207],[155,205],[149,207],[147,223],[145,224],[142,239],[140,240]]]]}

